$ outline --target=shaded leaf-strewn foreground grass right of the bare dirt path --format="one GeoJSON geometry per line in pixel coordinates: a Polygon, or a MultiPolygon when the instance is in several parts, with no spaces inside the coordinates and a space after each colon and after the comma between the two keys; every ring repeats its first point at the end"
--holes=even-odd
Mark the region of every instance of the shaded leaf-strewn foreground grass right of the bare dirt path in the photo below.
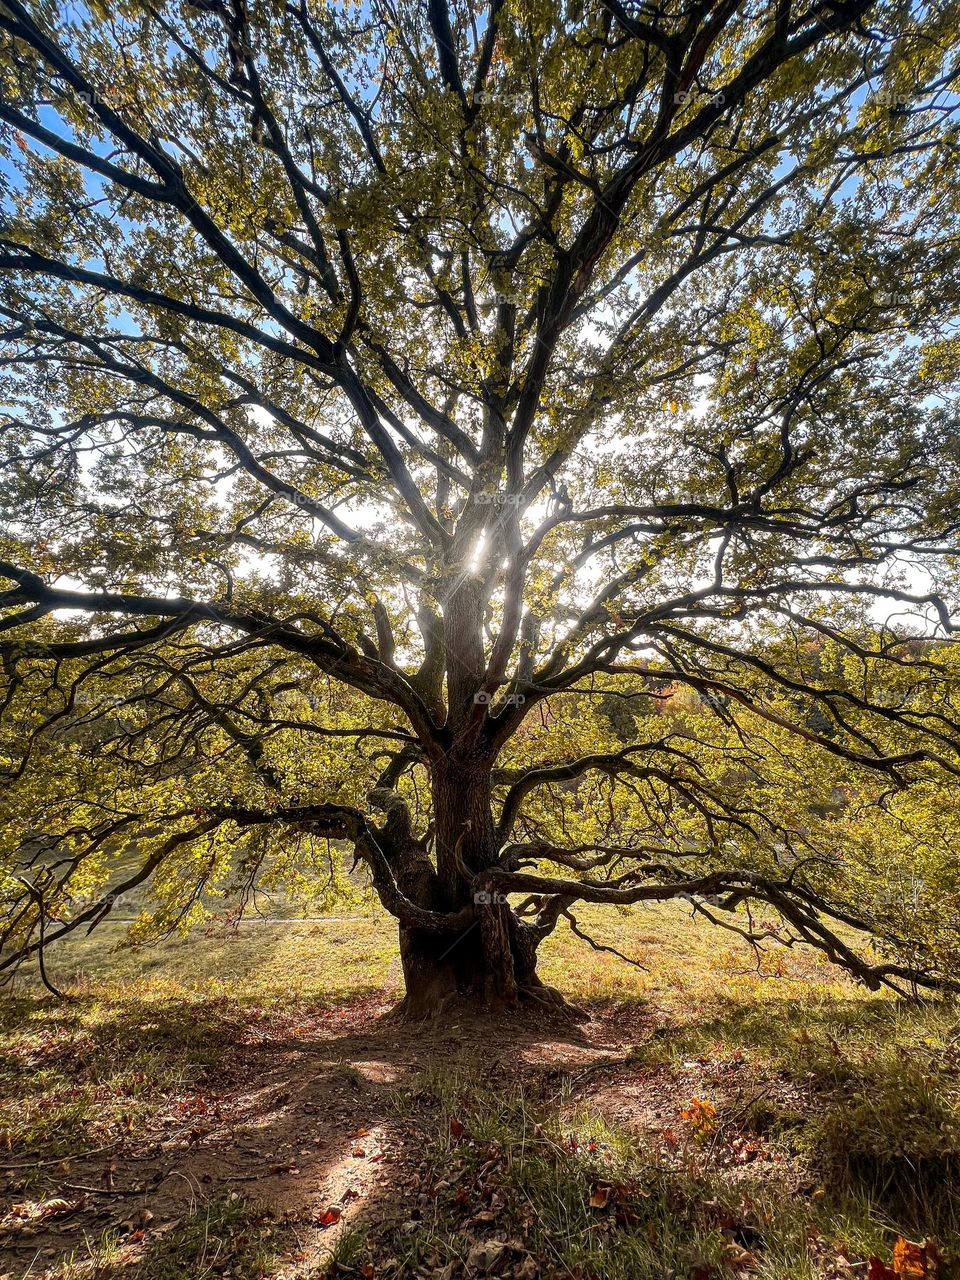
{"type": "MultiPolygon", "coordinates": [[[[531,1276],[575,1280],[852,1276],[870,1257],[890,1262],[897,1235],[920,1229],[922,1238],[932,1225],[923,1213],[891,1212],[888,1198],[854,1178],[801,1196],[792,1170],[731,1181],[712,1162],[708,1143],[692,1134],[664,1161],[567,1091],[557,1093],[547,1076],[543,1084],[498,1092],[480,1075],[434,1068],[398,1091],[399,1110],[419,1100],[439,1107],[440,1120],[425,1147],[430,1192],[422,1220],[378,1240],[378,1253],[396,1260],[390,1275],[444,1267],[461,1275],[480,1221],[480,1240],[507,1242],[515,1265],[536,1260],[531,1276]],[[852,1270],[844,1270],[847,1263],[852,1270]]],[[[791,1129],[797,1124],[801,1137],[812,1138],[822,1119],[792,1117],[791,1129]]],[[[812,1152],[812,1174],[826,1175],[837,1153],[837,1147],[812,1152]]],[[[956,1275],[960,1190],[923,1172],[918,1184],[936,1196],[945,1249],[940,1275],[956,1275]]],[[[356,1236],[349,1253],[351,1261],[372,1256],[356,1236]]],[[[329,1274],[340,1272],[333,1266],[329,1274]]]]}

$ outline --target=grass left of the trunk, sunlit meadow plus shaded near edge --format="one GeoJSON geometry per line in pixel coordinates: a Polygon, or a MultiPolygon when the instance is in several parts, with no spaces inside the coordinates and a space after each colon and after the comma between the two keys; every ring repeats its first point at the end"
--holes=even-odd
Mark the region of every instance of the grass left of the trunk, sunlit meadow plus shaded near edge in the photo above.
{"type": "Polygon", "coordinates": [[[27,973],[0,1000],[0,1153],[69,1156],[140,1128],[165,1100],[202,1091],[244,1028],[278,1006],[399,995],[383,916],[120,942],[108,927],[50,948],[67,1004],[27,973]]]}

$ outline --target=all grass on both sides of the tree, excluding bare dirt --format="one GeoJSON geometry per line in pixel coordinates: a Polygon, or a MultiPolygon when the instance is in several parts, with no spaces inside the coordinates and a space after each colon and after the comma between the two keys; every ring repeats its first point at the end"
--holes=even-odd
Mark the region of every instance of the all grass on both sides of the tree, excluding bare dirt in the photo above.
{"type": "MultiPolygon", "coordinates": [[[[643,1079],[682,1101],[698,1079],[717,1133],[698,1140],[677,1119],[678,1140],[664,1147],[604,1120],[584,1082],[564,1085],[549,1062],[497,1091],[477,1079],[476,1062],[438,1061],[401,1080],[393,1100],[398,1119],[422,1115],[426,1125],[417,1151],[426,1172],[394,1192],[411,1220],[385,1234],[361,1220],[338,1239],[330,1275],[452,1267],[454,1280],[485,1240],[508,1245],[492,1274],[520,1280],[859,1280],[870,1256],[890,1262],[899,1234],[960,1253],[955,1004],[869,993],[813,954],[782,952],[758,969],[737,938],[678,905],[584,909],[579,919],[644,966],[566,929],[544,948],[547,982],[611,1027],[623,1018],[636,1028],[622,1060],[590,1079],[612,1089],[643,1079]],[[750,1080],[746,1106],[741,1092],[732,1101],[723,1092],[731,1064],[750,1080]],[[463,1125],[458,1137],[451,1120],[463,1125]],[[719,1157],[735,1135],[759,1138],[782,1162],[731,1174],[719,1157]],[[598,1187],[609,1192],[591,1206],[598,1187]]],[[[0,1162],[20,1166],[24,1194],[44,1176],[31,1172],[35,1161],[136,1138],[163,1108],[189,1121],[251,1033],[283,1039],[301,1019],[339,1018],[370,997],[375,1012],[399,995],[396,933],[378,913],[243,924],[145,950],[105,946],[116,938],[104,931],[51,950],[69,1004],[23,978],[0,1000],[0,1162]]],[[[356,1070],[337,1066],[344,1078],[356,1070]]],[[[292,1248],[285,1231],[220,1197],[141,1251],[104,1239],[49,1274],[253,1280],[292,1248]]]]}

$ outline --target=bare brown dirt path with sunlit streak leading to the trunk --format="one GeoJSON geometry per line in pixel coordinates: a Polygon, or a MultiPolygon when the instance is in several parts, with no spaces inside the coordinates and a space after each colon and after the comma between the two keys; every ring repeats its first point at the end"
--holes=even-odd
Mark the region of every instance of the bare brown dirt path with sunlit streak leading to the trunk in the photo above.
{"type": "MultiPolygon", "coordinates": [[[[45,1169],[42,1196],[72,1208],[8,1234],[6,1274],[42,1276],[105,1230],[163,1231],[228,1188],[282,1208],[298,1240],[283,1275],[310,1274],[358,1220],[402,1222],[416,1210],[430,1116],[398,1091],[438,1064],[480,1068],[497,1085],[534,1073],[566,1079],[575,1096],[667,1148],[678,1105],[705,1078],[733,1097],[756,1084],[736,1062],[691,1062],[672,1075],[631,1066],[627,1051],[652,1034],[640,1011],[595,1015],[581,1027],[527,1016],[402,1027],[381,1020],[385,1012],[367,1001],[293,1025],[265,1020],[225,1055],[228,1070],[202,1096],[169,1098],[147,1132],[45,1169]]],[[[18,1174],[6,1179],[4,1215],[23,1199],[18,1174]]],[[[32,1185],[29,1196],[41,1190],[32,1185]]]]}

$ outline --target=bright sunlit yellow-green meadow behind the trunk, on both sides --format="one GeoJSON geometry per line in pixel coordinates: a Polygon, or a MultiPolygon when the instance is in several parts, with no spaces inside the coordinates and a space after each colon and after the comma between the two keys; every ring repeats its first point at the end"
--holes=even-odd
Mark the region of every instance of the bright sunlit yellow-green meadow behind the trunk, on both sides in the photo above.
{"type": "MultiPolygon", "coordinates": [[[[786,995],[805,1002],[838,992],[858,995],[826,959],[813,952],[773,952],[763,972],[741,940],[692,919],[682,904],[628,910],[582,908],[582,927],[600,943],[636,959],[643,970],[609,952],[591,950],[561,925],[541,948],[544,980],[585,1002],[649,1002],[666,1012],[689,1010],[691,1000],[719,998],[731,986],[751,1002],[786,995]]],[[[379,908],[353,919],[311,924],[241,922],[216,925],[189,938],[147,947],[124,945],[122,925],[105,924],[91,937],[69,938],[47,950],[51,978],[72,995],[123,997],[157,987],[169,992],[229,996],[233,1000],[311,1000],[324,1005],[358,996],[399,995],[396,927],[379,908]]],[[[18,979],[23,982],[24,979],[18,979]]],[[[27,979],[28,989],[38,989],[27,979]]]]}

